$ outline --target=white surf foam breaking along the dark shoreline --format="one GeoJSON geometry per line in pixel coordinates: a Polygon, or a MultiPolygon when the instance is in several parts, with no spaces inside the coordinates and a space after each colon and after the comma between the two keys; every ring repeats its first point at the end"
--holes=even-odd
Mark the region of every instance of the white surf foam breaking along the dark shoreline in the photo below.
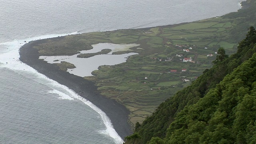
{"type": "MultiPolygon", "coordinates": [[[[72,34],[76,34],[76,32],[72,34]]],[[[68,100],[78,99],[82,101],[84,104],[90,106],[90,108],[95,110],[100,115],[100,117],[102,118],[106,126],[106,130],[104,130],[104,133],[102,134],[106,134],[111,138],[113,138],[116,144],[122,144],[123,143],[122,138],[114,130],[111,120],[102,110],[100,110],[100,108],[96,107],[94,104],[92,104],[88,100],[82,98],[81,96],[76,94],[73,90],[70,90],[68,87],[62,84],[59,84],[58,82],[46,77],[45,75],[38,73],[34,68],[20,62],[19,48],[22,45],[26,44],[26,42],[29,42],[31,40],[53,38],[53,37],[64,36],[64,35],[67,35],[67,34],[46,35],[46,36],[39,36],[34,38],[27,38],[24,40],[14,40],[12,42],[0,43],[0,46],[2,48],[5,48],[4,52],[0,54],[1,67],[12,69],[18,73],[22,73],[25,71],[26,73],[29,72],[31,74],[34,74],[34,77],[30,77],[30,78],[34,78],[34,80],[36,80],[37,82],[40,82],[52,88],[53,90],[48,91],[49,93],[59,94],[61,96],[60,97],[61,99],[68,99],[68,100]]]]}

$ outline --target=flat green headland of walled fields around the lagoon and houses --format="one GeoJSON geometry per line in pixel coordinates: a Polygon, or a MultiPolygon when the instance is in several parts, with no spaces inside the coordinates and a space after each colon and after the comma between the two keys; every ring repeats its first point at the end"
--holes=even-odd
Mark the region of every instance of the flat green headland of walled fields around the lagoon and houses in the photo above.
{"type": "MultiPolygon", "coordinates": [[[[240,13],[243,11],[239,10],[240,13]]],[[[130,122],[135,124],[152,114],[161,102],[190,84],[182,79],[193,80],[206,68],[212,67],[211,62],[216,58],[214,52],[218,48],[224,47],[228,54],[236,51],[237,42],[246,34],[246,26],[255,25],[255,21],[251,19],[245,24],[246,16],[233,15],[172,26],[70,35],[58,40],[49,39],[35,48],[42,55],[72,55],[78,50],[89,50],[91,44],[100,42],[141,44],[131,48],[129,52],[139,55],[130,56],[126,63],[100,66],[99,70],[92,72],[93,77],[85,77],[93,80],[103,95],[124,104],[131,111],[130,122]],[[246,26],[240,26],[241,22],[246,26]],[[232,37],[236,34],[234,30],[240,32],[235,39],[232,37]],[[183,51],[190,47],[190,52],[183,51]],[[180,58],[176,54],[183,56],[180,58]],[[207,57],[208,54],[214,56],[207,57]],[[167,57],[172,60],[159,61],[167,57]],[[192,57],[195,63],[182,62],[180,59],[184,57],[192,57]],[[182,68],[187,71],[180,72],[182,68]],[[170,70],[177,72],[168,73],[170,70]]]]}

